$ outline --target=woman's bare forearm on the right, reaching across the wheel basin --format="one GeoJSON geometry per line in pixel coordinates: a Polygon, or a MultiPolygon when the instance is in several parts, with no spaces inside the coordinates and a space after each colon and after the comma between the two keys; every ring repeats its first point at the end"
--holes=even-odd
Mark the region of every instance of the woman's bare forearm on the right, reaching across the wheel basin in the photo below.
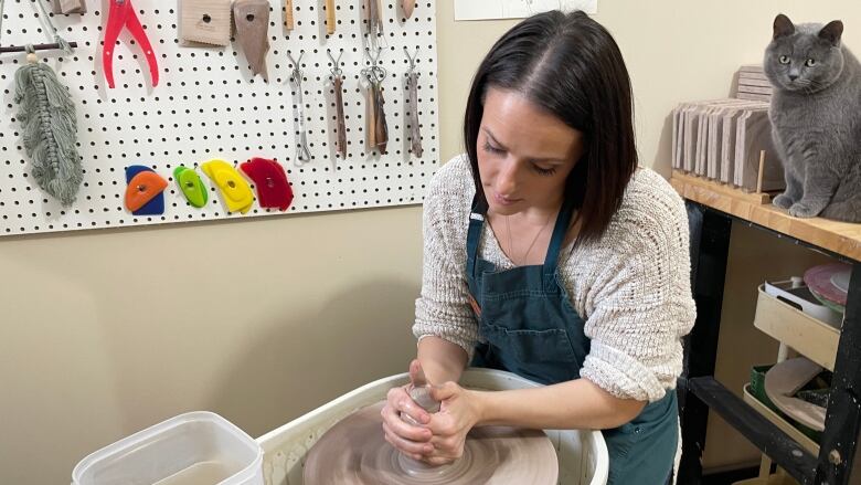
{"type": "Polygon", "coordinates": [[[604,430],[629,422],[646,405],[616,398],[587,379],[534,389],[469,392],[479,403],[477,425],[604,430]]]}

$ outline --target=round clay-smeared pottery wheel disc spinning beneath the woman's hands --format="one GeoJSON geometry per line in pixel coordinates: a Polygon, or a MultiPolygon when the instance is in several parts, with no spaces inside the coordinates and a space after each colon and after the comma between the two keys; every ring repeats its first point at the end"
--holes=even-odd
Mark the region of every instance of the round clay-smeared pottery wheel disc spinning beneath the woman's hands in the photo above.
{"type": "Polygon", "coordinates": [[[384,404],[360,409],[323,434],[308,451],[305,485],[556,483],[556,451],[541,431],[476,428],[460,460],[431,466],[402,455],[385,441],[380,415],[384,404]]]}

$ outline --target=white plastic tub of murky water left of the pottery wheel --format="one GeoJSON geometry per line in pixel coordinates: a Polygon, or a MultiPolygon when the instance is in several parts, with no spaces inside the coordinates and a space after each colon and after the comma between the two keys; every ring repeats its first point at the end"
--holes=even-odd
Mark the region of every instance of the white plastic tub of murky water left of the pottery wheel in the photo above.
{"type": "Polygon", "coordinates": [[[171,418],[81,461],[72,485],[264,485],[263,450],[211,412],[171,418]]]}

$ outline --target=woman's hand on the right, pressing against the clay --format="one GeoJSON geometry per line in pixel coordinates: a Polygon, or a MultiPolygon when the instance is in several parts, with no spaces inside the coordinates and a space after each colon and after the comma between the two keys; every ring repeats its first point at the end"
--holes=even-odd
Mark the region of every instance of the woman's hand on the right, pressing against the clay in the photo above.
{"type": "Polygon", "coordinates": [[[451,463],[464,455],[467,433],[481,419],[479,393],[455,382],[433,387],[431,397],[440,401],[439,412],[431,414],[427,428],[433,432],[433,452],[424,461],[432,465],[451,463]]]}

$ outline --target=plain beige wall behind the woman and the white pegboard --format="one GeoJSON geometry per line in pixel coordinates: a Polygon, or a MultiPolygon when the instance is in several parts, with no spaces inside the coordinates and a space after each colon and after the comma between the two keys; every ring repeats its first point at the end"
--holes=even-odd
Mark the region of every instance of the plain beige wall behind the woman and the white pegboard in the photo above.
{"type": "MultiPolygon", "coordinates": [[[[668,173],[671,107],[727,95],[736,67],[759,60],[778,11],[841,18],[861,50],[861,7],[848,0],[600,1],[597,19],[634,78],[645,165],[668,173]]],[[[448,158],[460,150],[472,71],[513,22],[455,23],[451,0],[437,15],[448,158]]],[[[751,268],[782,260],[776,272],[788,274],[817,260],[772,241],[733,235],[721,349],[742,356],[719,365],[733,389],[747,361],[776,349],[750,324],[764,276],[751,268]]],[[[0,483],[66,483],[87,452],[188,410],[258,435],[402,371],[421,245],[416,207],[0,240],[0,483]]],[[[716,430],[706,464],[755,456],[716,430]]]]}

